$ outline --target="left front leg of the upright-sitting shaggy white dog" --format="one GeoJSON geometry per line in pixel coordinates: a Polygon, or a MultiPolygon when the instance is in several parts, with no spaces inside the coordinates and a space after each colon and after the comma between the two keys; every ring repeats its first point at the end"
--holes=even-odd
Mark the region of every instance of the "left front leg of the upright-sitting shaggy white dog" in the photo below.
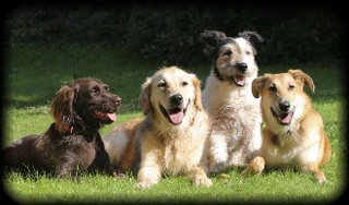
{"type": "Polygon", "coordinates": [[[226,168],[228,160],[228,147],[224,134],[209,136],[209,171],[218,172],[226,168]]]}

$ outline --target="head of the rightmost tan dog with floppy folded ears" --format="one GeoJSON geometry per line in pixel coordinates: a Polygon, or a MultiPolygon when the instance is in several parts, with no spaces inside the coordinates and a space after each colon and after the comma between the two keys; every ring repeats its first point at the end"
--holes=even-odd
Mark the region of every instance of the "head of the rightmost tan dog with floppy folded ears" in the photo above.
{"type": "MultiPolygon", "coordinates": [[[[254,97],[262,96],[264,114],[278,122],[280,125],[289,125],[297,109],[303,109],[304,85],[313,92],[313,80],[301,70],[289,70],[288,73],[264,74],[252,83],[254,97]]],[[[268,119],[270,119],[268,118],[268,119]]]]}

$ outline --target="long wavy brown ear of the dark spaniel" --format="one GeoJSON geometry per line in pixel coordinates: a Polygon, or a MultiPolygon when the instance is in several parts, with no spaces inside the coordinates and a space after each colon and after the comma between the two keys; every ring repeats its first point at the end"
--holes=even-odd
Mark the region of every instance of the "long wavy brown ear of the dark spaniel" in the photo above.
{"type": "Polygon", "coordinates": [[[51,105],[51,114],[55,118],[56,129],[60,133],[71,132],[71,124],[74,121],[73,101],[74,89],[63,85],[56,94],[51,105]]]}

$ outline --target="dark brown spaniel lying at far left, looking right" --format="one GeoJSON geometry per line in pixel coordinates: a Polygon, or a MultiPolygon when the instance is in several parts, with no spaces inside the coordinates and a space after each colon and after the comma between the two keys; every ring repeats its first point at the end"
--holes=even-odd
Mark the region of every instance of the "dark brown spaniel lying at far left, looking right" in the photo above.
{"type": "Polygon", "coordinates": [[[5,167],[44,168],[58,177],[109,171],[109,156],[98,130],[116,121],[120,105],[121,98],[95,79],[79,79],[62,86],[51,106],[55,123],[41,135],[24,136],[5,147],[5,167]]]}

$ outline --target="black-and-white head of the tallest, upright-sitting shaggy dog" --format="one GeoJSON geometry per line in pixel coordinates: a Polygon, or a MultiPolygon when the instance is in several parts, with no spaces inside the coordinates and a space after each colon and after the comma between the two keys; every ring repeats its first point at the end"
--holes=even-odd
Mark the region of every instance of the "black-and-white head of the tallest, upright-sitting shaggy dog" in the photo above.
{"type": "Polygon", "coordinates": [[[213,72],[219,81],[242,87],[246,85],[248,79],[256,77],[258,69],[252,38],[263,40],[256,32],[242,32],[237,38],[227,37],[217,31],[204,31],[201,34],[205,44],[204,52],[212,59],[213,72]]]}

